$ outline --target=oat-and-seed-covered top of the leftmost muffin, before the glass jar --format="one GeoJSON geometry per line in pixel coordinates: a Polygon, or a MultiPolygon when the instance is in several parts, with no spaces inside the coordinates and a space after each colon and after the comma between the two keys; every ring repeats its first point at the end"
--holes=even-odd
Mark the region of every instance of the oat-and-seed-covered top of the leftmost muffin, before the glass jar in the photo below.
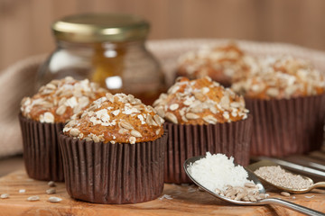
{"type": "Polygon", "coordinates": [[[96,83],[90,83],[88,79],[78,81],[67,76],[43,85],[32,97],[24,97],[21,112],[24,117],[34,121],[66,122],[88,103],[106,93],[105,89],[99,88],[96,83]]]}

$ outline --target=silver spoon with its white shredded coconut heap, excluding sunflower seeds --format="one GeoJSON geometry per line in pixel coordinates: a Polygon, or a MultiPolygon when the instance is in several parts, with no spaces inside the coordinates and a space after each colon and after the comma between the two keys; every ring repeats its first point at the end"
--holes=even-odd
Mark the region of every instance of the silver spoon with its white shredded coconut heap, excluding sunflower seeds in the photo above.
{"type": "MultiPolygon", "coordinates": [[[[255,184],[258,187],[258,193],[265,194],[263,184],[258,180],[257,176],[246,170],[243,166],[237,166],[233,162],[233,158],[228,158],[225,155],[211,155],[207,152],[207,156],[191,157],[183,164],[185,173],[190,177],[194,184],[197,184],[201,189],[218,197],[219,199],[239,205],[265,205],[278,204],[293,211],[298,211],[306,215],[321,215],[320,211],[315,211],[288,202],[278,198],[265,198],[242,200],[228,195],[228,187],[243,187],[247,184],[255,184]],[[233,184],[233,185],[231,185],[233,184]],[[223,190],[226,189],[226,193],[223,190]]],[[[257,196],[255,196],[257,198],[257,196]]]]}

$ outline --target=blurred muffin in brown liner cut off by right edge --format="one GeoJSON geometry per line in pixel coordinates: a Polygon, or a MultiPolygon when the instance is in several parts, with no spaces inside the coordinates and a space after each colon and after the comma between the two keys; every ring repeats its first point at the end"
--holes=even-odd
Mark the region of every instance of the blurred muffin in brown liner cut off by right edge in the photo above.
{"type": "Polygon", "coordinates": [[[284,157],[319,149],[325,76],[300,58],[261,59],[260,72],[232,85],[254,116],[251,153],[284,157]]]}

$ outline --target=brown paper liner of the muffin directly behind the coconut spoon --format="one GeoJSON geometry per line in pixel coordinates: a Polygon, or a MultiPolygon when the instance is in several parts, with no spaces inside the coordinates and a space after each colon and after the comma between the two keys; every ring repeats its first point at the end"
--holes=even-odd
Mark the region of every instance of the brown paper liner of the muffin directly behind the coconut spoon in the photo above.
{"type": "Polygon", "coordinates": [[[165,183],[191,183],[183,170],[187,158],[222,153],[234,157],[237,164],[249,163],[252,117],[230,123],[186,125],[165,122],[168,141],[165,156],[165,183]]]}

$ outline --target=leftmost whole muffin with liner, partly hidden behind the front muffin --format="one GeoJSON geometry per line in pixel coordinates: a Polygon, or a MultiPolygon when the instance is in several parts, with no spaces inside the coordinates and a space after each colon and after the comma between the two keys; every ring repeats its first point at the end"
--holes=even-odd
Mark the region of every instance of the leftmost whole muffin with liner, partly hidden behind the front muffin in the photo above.
{"type": "Polygon", "coordinates": [[[77,81],[68,76],[23,98],[19,121],[24,165],[31,178],[64,181],[58,135],[74,113],[106,93],[88,79],[77,81]]]}

